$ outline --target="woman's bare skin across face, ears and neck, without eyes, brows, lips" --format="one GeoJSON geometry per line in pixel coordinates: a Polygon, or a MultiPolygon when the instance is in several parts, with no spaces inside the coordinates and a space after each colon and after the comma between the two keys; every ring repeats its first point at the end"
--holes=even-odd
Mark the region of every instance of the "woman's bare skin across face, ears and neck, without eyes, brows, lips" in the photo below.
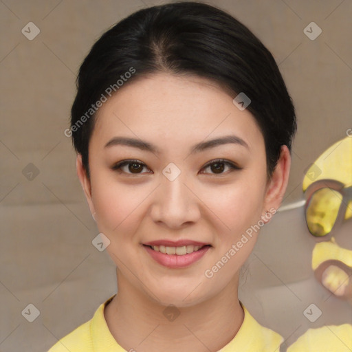
{"type": "Polygon", "coordinates": [[[110,244],[117,267],[118,294],[106,307],[107,325],[129,351],[218,351],[243,322],[237,291],[239,270],[259,232],[212,278],[204,275],[251,225],[283,199],[291,158],[282,147],[274,175],[266,178],[263,135],[252,114],[240,111],[216,83],[197,76],[153,74],[122,87],[98,111],[89,143],[91,179],[80,155],[77,173],[98,229],[110,244]],[[199,142],[236,135],[248,144],[223,144],[190,154],[199,142]],[[104,145],[115,136],[155,144],[160,153],[131,146],[104,145]],[[111,167],[124,159],[140,166],[111,167]],[[226,159],[217,171],[207,166],[226,159]],[[162,170],[174,163],[173,181],[162,170]],[[158,239],[192,239],[212,248],[192,265],[170,269],[159,265],[141,243],[158,239]],[[179,316],[163,314],[175,305],[179,316]]]}

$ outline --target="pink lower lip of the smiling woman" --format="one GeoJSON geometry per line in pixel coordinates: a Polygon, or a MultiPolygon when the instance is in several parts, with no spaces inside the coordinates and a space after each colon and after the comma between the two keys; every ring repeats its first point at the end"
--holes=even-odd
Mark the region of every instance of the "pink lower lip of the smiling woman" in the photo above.
{"type": "Polygon", "coordinates": [[[143,245],[143,247],[146,249],[146,252],[151,254],[151,257],[157,261],[157,263],[172,268],[187,267],[188,265],[199,261],[199,259],[201,259],[210,248],[209,245],[206,245],[196,252],[184,254],[184,256],[178,256],[177,254],[164,254],[162,252],[157,252],[148,247],[148,245],[143,245]]]}

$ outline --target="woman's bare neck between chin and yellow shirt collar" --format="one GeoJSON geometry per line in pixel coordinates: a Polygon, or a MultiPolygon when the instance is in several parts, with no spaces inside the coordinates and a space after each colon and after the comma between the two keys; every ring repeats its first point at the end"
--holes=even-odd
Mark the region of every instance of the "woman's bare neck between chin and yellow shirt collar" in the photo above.
{"type": "Polygon", "coordinates": [[[217,296],[189,307],[167,307],[118,272],[118,294],[104,316],[113,338],[126,351],[219,351],[243,322],[238,282],[239,273],[217,296]]]}

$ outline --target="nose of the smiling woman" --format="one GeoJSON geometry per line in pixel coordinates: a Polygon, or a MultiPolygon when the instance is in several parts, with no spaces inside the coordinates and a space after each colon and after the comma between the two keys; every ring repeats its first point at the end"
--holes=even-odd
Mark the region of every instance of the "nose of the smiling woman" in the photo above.
{"type": "Polygon", "coordinates": [[[155,223],[176,229],[195,223],[201,217],[201,200],[184,173],[173,180],[162,175],[153,197],[150,214],[155,223]]]}

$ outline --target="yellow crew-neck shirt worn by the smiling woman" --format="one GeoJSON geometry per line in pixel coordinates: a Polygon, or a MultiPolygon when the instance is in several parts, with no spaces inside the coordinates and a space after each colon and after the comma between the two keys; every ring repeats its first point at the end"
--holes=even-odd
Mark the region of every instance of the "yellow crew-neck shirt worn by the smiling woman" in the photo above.
{"type": "MultiPolygon", "coordinates": [[[[104,307],[111,296],[96,310],[93,318],[56,342],[48,352],[126,352],[113,338],[104,318],[104,307]]],[[[218,352],[278,351],[283,338],[276,332],[262,327],[240,302],[244,320],[236,336],[218,352]]]]}

